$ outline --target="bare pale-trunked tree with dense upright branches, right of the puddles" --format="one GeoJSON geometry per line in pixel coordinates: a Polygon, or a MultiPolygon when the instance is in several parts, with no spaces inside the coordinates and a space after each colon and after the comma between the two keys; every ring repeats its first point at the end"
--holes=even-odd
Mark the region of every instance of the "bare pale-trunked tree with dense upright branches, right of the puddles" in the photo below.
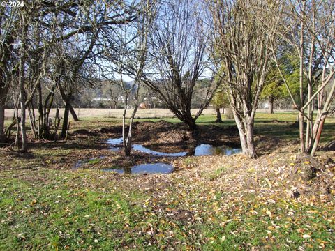
{"type": "Polygon", "coordinates": [[[269,72],[271,46],[274,40],[274,20],[265,29],[258,22],[256,10],[271,9],[257,0],[221,0],[209,3],[213,18],[214,46],[221,59],[221,74],[225,77],[234,119],[239,129],[242,151],[255,158],[254,119],[260,93],[269,72]]]}

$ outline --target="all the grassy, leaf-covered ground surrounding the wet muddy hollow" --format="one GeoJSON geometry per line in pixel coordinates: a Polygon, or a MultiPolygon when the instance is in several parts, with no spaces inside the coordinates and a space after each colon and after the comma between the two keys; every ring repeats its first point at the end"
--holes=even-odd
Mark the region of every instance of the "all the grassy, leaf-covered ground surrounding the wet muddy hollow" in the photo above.
{"type": "MultiPolygon", "coordinates": [[[[334,250],[335,153],[318,152],[320,172],[306,179],[313,160],[299,158],[295,119],[293,112],[257,114],[257,160],[162,159],[173,163],[172,174],[101,171],[153,161],[108,150],[103,142],[111,135],[102,133],[31,142],[27,154],[2,148],[0,250],[334,250]],[[77,160],[101,155],[73,169],[77,160]],[[293,188],[299,197],[290,197],[293,188]]],[[[161,119],[137,119],[144,120],[161,119]]],[[[205,114],[198,124],[234,125],[214,120],[205,114]]],[[[118,118],[89,116],[71,121],[70,132],[119,125],[118,118]]],[[[322,144],[334,139],[334,128],[329,119],[322,144]]]]}

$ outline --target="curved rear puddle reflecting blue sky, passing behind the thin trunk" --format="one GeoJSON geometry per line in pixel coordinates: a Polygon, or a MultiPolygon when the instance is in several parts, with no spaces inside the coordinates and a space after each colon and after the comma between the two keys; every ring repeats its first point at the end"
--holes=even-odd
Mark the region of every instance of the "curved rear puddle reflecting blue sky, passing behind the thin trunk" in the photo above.
{"type": "MultiPolygon", "coordinates": [[[[107,144],[110,144],[112,151],[119,151],[121,147],[118,147],[122,143],[122,138],[109,139],[107,144]]],[[[141,144],[133,144],[133,150],[140,151],[142,153],[149,153],[151,155],[162,156],[162,157],[182,157],[182,156],[202,156],[202,155],[232,155],[234,153],[241,153],[240,148],[234,148],[230,146],[212,146],[209,144],[200,144],[198,146],[188,146],[187,151],[183,148],[179,148],[181,151],[176,151],[174,147],[173,153],[165,151],[157,151],[159,148],[143,146],[141,144]],[[182,151],[184,150],[184,151],[182,151]]],[[[166,148],[165,148],[166,149],[166,148]]]]}

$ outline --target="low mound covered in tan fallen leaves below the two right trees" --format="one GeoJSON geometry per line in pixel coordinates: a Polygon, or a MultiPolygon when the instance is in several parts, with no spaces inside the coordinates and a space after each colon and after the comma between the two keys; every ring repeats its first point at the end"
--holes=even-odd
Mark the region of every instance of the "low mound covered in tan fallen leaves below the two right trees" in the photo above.
{"type": "Polygon", "coordinates": [[[292,197],[298,201],[334,203],[335,153],[324,152],[311,158],[296,155],[297,146],[282,146],[254,160],[239,154],[201,156],[179,160],[174,166],[179,167],[179,172],[201,176],[204,183],[212,183],[234,197],[250,192],[265,201],[292,197]]]}

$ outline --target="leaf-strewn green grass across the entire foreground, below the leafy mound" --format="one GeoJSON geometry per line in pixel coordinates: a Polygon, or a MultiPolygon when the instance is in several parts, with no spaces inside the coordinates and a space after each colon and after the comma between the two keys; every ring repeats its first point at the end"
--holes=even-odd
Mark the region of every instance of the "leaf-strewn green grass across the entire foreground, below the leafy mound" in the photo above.
{"type": "Polygon", "coordinates": [[[335,245],[332,208],[283,199],[269,204],[260,197],[226,201],[225,193],[187,181],[155,197],[99,176],[51,169],[2,172],[0,250],[314,250],[321,243],[335,245]],[[159,205],[165,209],[158,211],[159,205]],[[171,220],[168,212],[177,208],[193,212],[195,220],[171,220]]]}

